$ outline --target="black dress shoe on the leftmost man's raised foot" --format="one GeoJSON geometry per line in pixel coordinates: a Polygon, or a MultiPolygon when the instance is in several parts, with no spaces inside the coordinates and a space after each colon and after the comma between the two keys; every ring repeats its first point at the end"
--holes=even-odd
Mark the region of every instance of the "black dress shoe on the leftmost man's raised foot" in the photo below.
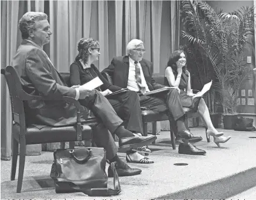
{"type": "Polygon", "coordinates": [[[156,140],[155,135],[150,136],[134,136],[129,138],[120,138],[119,139],[119,149],[118,152],[127,152],[127,150],[136,148],[139,146],[146,146],[151,144],[156,140]]]}

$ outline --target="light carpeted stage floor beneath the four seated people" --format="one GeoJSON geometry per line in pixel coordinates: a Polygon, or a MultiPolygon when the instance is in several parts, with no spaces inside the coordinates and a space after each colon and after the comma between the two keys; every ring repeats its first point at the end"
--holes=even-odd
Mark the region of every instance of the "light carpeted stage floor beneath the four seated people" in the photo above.
{"type": "MultiPolygon", "coordinates": [[[[17,179],[10,181],[11,161],[1,160],[1,199],[227,199],[256,186],[256,132],[219,129],[232,138],[218,148],[212,137],[207,143],[204,128],[191,131],[203,137],[196,146],[206,150],[206,155],[180,155],[178,145],[176,150],[171,148],[169,132],[162,131],[156,144],[149,146],[149,157],[155,163],[129,163],[142,173],[120,177],[122,191],[115,197],[88,197],[81,192],[56,194],[49,176],[53,152],[26,156],[22,192],[16,194],[17,179]]],[[[118,155],[125,161],[124,153],[118,155]]],[[[112,178],[108,187],[112,187],[112,178]]]]}

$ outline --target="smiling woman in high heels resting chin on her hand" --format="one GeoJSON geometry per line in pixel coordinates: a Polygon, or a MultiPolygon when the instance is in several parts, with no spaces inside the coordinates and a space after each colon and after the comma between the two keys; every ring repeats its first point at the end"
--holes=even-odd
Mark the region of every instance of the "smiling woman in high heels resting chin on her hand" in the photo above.
{"type": "MultiPolygon", "coordinates": [[[[180,89],[180,99],[182,106],[198,111],[200,117],[207,126],[207,134],[213,136],[214,142],[220,147],[220,143],[227,142],[231,136],[222,136],[223,132],[218,132],[213,127],[209,110],[204,102],[202,95],[195,97],[190,85],[190,73],[186,69],[186,55],[183,51],[174,51],[169,58],[165,69],[165,83],[169,86],[178,86],[180,89]]],[[[200,94],[200,93],[199,93],[200,94]]]]}

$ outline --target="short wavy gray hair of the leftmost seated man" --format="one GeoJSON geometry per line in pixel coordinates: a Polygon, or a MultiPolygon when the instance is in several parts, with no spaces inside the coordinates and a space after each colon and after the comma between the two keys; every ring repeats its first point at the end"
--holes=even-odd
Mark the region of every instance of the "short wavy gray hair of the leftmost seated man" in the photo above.
{"type": "Polygon", "coordinates": [[[43,12],[26,12],[19,20],[19,30],[21,30],[22,39],[29,37],[29,29],[35,27],[36,21],[45,20],[48,16],[43,12]]]}

